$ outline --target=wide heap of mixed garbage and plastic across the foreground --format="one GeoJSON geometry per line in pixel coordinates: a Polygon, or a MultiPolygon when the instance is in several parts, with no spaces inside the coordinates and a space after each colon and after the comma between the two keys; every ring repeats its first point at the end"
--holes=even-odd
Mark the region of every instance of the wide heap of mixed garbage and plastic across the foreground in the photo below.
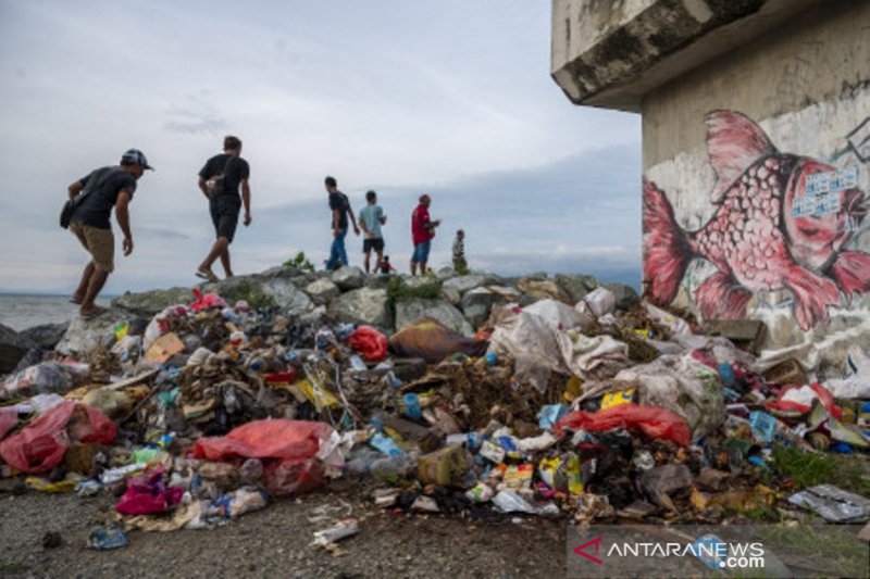
{"type": "MultiPolygon", "coordinates": [[[[225,525],[339,477],[396,512],[870,518],[867,498],[776,468],[780,452],[849,454],[870,486],[860,345],[816,380],[757,357],[756,323],[703,330],[646,302],[617,307],[604,287],[527,295],[468,336],[425,315],[387,333],[197,289],[4,379],[0,491],[117,496],[91,530],[99,549],[129,529],[225,525]]],[[[315,542],[357,531],[341,520],[315,542]]]]}

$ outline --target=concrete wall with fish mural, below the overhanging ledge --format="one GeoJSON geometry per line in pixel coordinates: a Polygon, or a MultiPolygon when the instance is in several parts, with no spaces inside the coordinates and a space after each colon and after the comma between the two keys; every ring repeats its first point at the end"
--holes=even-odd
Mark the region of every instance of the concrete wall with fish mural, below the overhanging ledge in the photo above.
{"type": "Polygon", "coordinates": [[[870,2],[824,2],[642,112],[652,295],[765,319],[771,347],[870,342],[870,2]]]}

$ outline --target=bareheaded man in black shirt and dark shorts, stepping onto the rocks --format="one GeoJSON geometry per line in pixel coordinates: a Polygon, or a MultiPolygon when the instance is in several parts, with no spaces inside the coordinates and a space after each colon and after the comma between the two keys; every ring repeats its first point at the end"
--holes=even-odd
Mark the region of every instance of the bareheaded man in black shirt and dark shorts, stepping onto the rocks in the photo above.
{"type": "Polygon", "coordinates": [[[233,277],[229,264],[229,243],[236,234],[238,212],[245,204],[245,227],[251,224],[251,190],[248,186],[250,167],[241,159],[241,141],[228,136],[224,139],[224,153],[214,155],[199,172],[199,189],[209,200],[209,212],[217,239],[197,268],[197,277],[217,281],[211,266],[220,257],[226,277],[233,277]],[[238,190],[241,187],[241,199],[238,190]]]}

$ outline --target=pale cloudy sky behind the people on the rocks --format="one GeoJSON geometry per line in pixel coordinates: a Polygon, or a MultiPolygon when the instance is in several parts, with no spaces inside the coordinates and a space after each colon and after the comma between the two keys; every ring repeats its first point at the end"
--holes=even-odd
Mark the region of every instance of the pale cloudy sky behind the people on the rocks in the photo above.
{"type": "Polygon", "coordinates": [[[251,166],[236,273],[300,250],[320,266],[335,175],[356,211],[378,191],[400,269],[428,192],[434,266],[464,228],[476,269],[637,284],[639,117],[568,101],[549,20],[543,0],[0,0],[0,290],[74,287],[87,259],[57,224],[66,187],[130,147],[157,172],[105,291],[196,281],[213,239],[196,174],[226,134],[251,166]]]}

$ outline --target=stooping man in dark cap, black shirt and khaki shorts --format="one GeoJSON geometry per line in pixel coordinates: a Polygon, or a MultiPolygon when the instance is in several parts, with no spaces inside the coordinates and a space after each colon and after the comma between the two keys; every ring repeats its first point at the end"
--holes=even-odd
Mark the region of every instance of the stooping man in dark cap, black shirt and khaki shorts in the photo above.
{"type": "Polygon", "coordinates": [[[70,199],[84,196],[73,211],[70,230],[91,256],[72,299],[73,303],[80,305],[78,313],[82,317],[91,318],[102,313],[102,309],[94,305],[94,300],[114,269],[115,239],[109,223],[112,207],[117,207],[115,218],[124,234],[124,255],[133,252],[128,205],[136,191],[136,181],[147,168],[153,171],[142,152],[130,149],[121,156],[121,166],[98,168],[69,187],[70,199]]]}

